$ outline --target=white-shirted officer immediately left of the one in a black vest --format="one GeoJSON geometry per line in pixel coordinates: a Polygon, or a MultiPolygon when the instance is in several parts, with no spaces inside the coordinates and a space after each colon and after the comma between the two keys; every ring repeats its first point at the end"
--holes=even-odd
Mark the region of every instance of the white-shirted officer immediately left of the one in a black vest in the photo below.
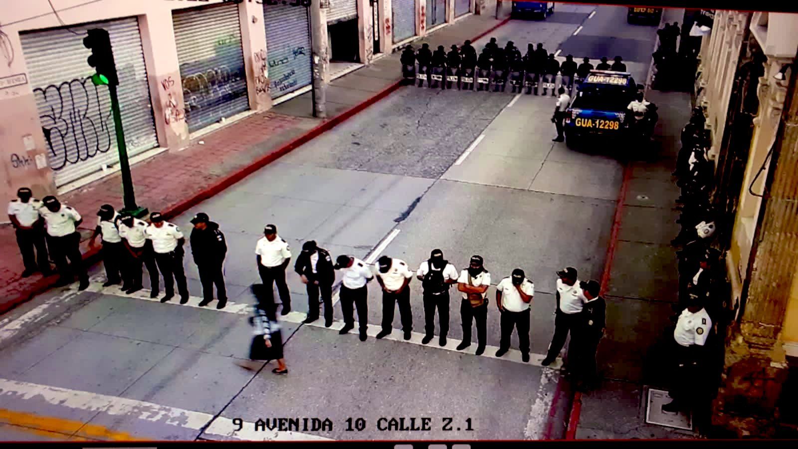
{"type": "Polygon", "coordinates": [[[413,280],[413,272],[404,260],[382,256],[377,260],[377,282],[382,287],[382,330],[377,339],[387,336],[393,330],[393,312],[399,304],[401,329],[405,332],[405,340],[410,340],[413,331],[413,313],[410,312],[410,289],[407,287],[413,280]]]}

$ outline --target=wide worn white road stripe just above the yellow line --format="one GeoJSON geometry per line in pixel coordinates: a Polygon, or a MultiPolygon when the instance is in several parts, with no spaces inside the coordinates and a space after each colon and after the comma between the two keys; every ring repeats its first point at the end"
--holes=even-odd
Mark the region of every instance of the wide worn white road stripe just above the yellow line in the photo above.
{"type": "Polygon", "coordinates": [[[294,431],[255,431],[255,423],[246,422],[243,423],[241,431],[235,431],[238,426],[233,424],[232,419],[223,416],[214,419],[214,415],[202,411],[185,410],[136,399],[51,387],[18,380],[0,379],[0,396],[4,397],[5,403],[10,403],[8,401],[11,399],[44,399],[47,403],[73,410],[92,411],[115,416],[132,416],[143,421],[164,423],[194,431],[200,431],[210,424],[207,426],[206,433],[247,441],[330,440],[329,438],[294,431]],[[212,423],[211,420],[213,420],[212,423]]]}

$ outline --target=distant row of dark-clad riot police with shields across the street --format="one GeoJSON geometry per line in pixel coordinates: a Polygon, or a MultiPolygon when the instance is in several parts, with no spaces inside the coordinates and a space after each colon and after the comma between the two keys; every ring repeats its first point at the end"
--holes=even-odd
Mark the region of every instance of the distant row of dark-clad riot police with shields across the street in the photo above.
{"type": "MultiPolygon", "coordinates": [[[[458,77],[460,81],[473,81],[475,75],[478,78],[492,78],[494,91],[498,92],[507,87],[508,77],[511,81],[512,92],[516,88],[520,92],[523,85],[527,86],[527,95],[532,93],[534,88],[535,95],[538,94],[540,81],[543,82],[543,95],[547,95],[547,85],[554,85],[558,74],[562,75],[560,85],[566,87],[570,92],[576,78],[584,79],[594,66],[590,58],[583,58],[582,64],[577,66],[573,55],[569,54],[561,65],[555,58],[555,54],[550,54],[543,48],[542,43],[538,43],[535,48],[532,44],[527,45],[527,54],[521,55],[521,51],[512,41],[502,49],[497,43],[496,38],[491,38],[490,42],[484,46],[482,53],[477,57],[476,50],[471,45],[471,41],[465,41],[460,49],[452,45],[447,53],[444,46],[438,46],[435,52],[429,50],[429,44],[422,44],[418,52],[413,51],[413,46],[406,46],[401,54],[401,64],[405,76],[412,71],[416,71],[418,62],[419,77],[418,86],[424,85],[424,79],[429,78],[429,87],[437,88],[438,80],[433,79],[433,75],[440,77],[441,89],[452,89],[453,81],[444,83],[444,77],[458,77]]],[[[614,63],[610,65],[607,58],[601,58],[601,62],[595,70],[615,70],[626,71],[626,64],[622,62],[620,56],[614,58],[614,63]]],[[[409,76],[408,76],[409,77],[409,76]]],[[[463,81],[462,85],[458,82],[457,89],[472,89],[473,82],[463,81]]],[[[477,83],[477,90],[488,89],[482,83],[477,83]]],[[[551,96],[555,96],[555,89],[552,87],[551,96]]]]}

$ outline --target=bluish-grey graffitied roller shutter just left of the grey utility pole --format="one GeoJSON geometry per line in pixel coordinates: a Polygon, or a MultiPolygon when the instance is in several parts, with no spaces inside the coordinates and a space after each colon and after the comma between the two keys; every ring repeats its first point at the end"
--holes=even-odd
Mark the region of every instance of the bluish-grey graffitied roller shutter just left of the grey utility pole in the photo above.
{"type": "Polygon", "coordinates": [[[279,98],[310,85],[310,24],[303,6],[263,4],[269,89],[279,98]]]}

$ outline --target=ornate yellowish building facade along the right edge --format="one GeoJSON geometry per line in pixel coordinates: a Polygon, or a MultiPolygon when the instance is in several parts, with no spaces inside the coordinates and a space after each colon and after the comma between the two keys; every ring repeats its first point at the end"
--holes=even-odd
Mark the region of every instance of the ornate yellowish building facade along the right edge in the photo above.
{"type": "Polygon", "coordinates": [[[695,99],[712,135],[729,280],[713,422],[740,436],[773,435],[798,357],[796,116],[784,113],[798,107],[796,53],[798,14],[717,11],[701,42],[695,99]]]}

